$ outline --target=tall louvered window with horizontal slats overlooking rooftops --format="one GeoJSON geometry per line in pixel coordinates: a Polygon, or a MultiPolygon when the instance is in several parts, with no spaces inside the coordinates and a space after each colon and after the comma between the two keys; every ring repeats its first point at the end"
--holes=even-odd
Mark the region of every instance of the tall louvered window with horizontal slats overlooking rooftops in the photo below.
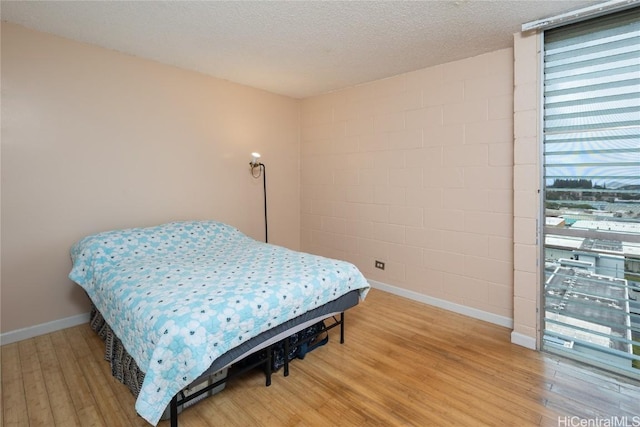
{"type": "Polygon", "coordinates": [[[544,33],[543,120],[544,345],[640,372],[640,8],[544,33]]]}

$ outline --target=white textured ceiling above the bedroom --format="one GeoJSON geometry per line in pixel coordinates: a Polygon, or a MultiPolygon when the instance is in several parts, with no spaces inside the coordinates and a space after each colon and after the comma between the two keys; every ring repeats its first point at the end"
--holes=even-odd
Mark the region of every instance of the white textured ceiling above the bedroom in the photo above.
{"type": "Polygon", "coordinates": [[[304,98],[513,46],[598,1],[2,1],[3,21],[304,98]]]}

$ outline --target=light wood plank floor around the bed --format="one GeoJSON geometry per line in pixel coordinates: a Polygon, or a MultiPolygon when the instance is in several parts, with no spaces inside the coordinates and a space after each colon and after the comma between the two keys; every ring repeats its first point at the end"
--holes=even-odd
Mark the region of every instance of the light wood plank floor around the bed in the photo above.
{"type": "MultiPolygon", "coordinates": [[[[237,378],[180,426],[640,425],[637,382],[512,345],[508,329],[379,290],[346,321],[345,344],[333,330],[289,377],[237,378]]],[[[0,424],[148,426],[103,351],[87,325],[2,346],[0,424]]]]}

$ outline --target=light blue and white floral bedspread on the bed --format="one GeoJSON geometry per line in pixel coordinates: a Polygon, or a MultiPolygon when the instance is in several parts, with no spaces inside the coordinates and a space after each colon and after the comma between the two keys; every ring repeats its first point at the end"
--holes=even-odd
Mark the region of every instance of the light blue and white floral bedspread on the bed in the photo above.
{"type": "Polygon", "coordinates": [[[137,412],[156,425],[220,355],[369,284],[338,261],[261,243],[215,221],[88,236],[71,249],[82,286],[145,372],[137,412]]]}

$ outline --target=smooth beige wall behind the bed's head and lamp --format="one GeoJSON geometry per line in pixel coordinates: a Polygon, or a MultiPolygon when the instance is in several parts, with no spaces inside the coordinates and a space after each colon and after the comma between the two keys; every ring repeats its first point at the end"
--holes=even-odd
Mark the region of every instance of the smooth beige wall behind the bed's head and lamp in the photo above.
{"type": "Polygon", "coordinates": [[[216,219],[299,249],[300,102],[2,24],[2,332],[87,311],[69,248],[216,219]]]}

